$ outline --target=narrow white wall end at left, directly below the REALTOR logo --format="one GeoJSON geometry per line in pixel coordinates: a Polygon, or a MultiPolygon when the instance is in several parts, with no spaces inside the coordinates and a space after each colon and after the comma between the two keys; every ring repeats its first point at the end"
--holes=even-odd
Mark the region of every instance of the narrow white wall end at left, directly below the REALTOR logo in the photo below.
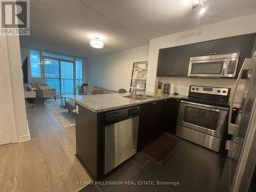
{"type": "Polygon", "coordinates": [[[12,102],[14,106],[14,117],[17,130],[18,141],[24,141],[30,139],[24,89],[23,89],[23,75],[22,65],[20,59],[19,49],[19,37],[18,36],[6,36],[7,39],[7,53],[11,77],[11,91],[12,91],[12,102]]]}

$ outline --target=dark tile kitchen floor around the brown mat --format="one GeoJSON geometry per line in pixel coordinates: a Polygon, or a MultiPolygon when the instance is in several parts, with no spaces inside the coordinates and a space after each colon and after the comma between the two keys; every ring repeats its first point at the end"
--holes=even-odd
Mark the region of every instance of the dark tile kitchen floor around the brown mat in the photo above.
{"type": "Polygon", "coordinates": [[[182,141],[181,146],[163,167],[137,153],[102,180],[123,181],[122,184],[92,184],[80,191],[228,191],[228,182],[222,182],[223,185],[220,185],[226,162],[225,156],[178,139],[182,141]],[[125,184],[125,181],[133,181],[136,185],[125,184]],[[139,185],[138,181],[153,181],[154,185],[139,185]],[[157,181],[176,181],[179,185],[158,185],[157,181]]]}

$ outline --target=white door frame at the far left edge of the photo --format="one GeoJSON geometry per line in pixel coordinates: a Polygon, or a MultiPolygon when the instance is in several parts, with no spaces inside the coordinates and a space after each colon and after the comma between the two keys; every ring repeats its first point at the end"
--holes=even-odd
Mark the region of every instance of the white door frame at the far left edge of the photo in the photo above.
{"type": "MultiPolygon", "coordinates": [[[[21,64],[20,64],[21,65],[21,64]]],[[[20,66],[21,67],[21,66],[20,66]]],[[[4,93],[5,93],[5,103],[4,106],[8,116],[8,125],[11,130],[12,143],[18,141],[16,123],[15,123],[15,113],[13,106],[13,96],[11,90],[11,76],[9,68],[9,58],[7,52],[7,40],[6,36],[0,35],[0,75],[4,77],[4,93]]]]}

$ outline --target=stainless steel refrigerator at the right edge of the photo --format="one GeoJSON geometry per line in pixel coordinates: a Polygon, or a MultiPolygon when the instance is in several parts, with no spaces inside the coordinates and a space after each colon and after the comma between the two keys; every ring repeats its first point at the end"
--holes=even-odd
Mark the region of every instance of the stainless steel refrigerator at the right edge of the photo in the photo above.
{"type": "MultiPolygon", "coordinates": [[[[256,52],[252,58],[245,59],[239,77],[230,98],[228,134],[226,141],[228,158],[222,175],[222,182],[227,183],[225,191],[255,190],[256,162],[256,52]],[[243,99],[236,124],[231,123],[232,106],[241,77],[245,75],[243,99]],[[253,186],[254,185],[254,186],[253,186]]],[[[223,188],[222,188],[223,189],[223,188]]],[[[223,190],[224,191],[224,190],[223,190]]]]}

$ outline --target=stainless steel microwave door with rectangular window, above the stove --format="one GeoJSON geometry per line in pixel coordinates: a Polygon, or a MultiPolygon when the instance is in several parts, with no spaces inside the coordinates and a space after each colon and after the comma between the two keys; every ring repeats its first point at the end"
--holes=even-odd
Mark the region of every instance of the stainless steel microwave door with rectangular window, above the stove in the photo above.
{"type": "Polygon", "coordinates": [[[228,59],[196,60],[189,62],[189,77],[225,77],[228,59]]]}

